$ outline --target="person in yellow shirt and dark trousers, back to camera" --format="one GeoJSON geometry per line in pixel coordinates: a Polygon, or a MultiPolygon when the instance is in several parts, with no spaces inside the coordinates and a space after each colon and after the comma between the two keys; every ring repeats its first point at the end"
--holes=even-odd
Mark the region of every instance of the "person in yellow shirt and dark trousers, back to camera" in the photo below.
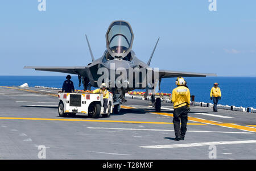
{"type": "Polygon", "coordinates": [[[172,90],[172,99],[174,103],[174,132],[176,141],[184,140],[185,134],[187,132],[187,122],[188,122],[188,111],[190,106],[190,91],[185,87],[185,80],[182,77],[177,77],[176,80],[177,87],[172,90]],[[181,121],[181,127],[180,127],[181,121]]]}

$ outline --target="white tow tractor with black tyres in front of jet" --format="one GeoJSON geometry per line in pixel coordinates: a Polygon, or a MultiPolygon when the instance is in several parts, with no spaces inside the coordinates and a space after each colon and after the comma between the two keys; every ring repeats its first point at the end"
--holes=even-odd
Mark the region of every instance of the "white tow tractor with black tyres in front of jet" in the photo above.
{"type": "Polygon", "coordinates": [[[108,109],[104,113],[103,95],[93,93],[58,93],[59,115],[61,117],[75,116],[77,113],[88,114],[89,118],[102,115],[108,118],[113,112],[113,94],[109,94],[108,109]]]}

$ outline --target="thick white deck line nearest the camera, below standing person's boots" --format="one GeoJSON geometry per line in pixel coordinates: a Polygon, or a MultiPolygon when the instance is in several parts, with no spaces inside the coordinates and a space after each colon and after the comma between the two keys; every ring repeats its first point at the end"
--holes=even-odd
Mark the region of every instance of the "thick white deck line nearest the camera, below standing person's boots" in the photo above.
{"type": "Polygon", "coordinates": [[[141,146],[142,148],[181,148],[181,147],[200,147],[208,145],[226,145],[226,144],[249,144],[256,143],[256,140],[246,141],[213,141],[205,143],[189,143],[189,144],[169,144],[169,145],[147,145],[141,146]]]}

